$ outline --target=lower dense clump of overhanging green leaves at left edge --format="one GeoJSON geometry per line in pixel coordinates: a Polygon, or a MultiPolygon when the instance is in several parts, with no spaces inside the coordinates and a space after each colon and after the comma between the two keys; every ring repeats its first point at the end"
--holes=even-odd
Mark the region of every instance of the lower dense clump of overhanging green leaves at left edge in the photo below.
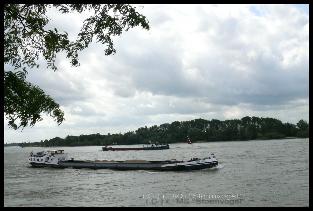
{"type": "MultiPolygon", "coordinates": [[[[4,71],[4,113],[8,125],[14,130],[43,120],[41,113],[53,117],[60,125],[64,121],[64,112],[59,109],[49,95],[46,95],[38,86],[28,83],[24,72],[4,71]],[[17,126],[15,120],[20,119],[17,126]]],[[[23,129],[22,129],[23,131],[23,129]]]]}

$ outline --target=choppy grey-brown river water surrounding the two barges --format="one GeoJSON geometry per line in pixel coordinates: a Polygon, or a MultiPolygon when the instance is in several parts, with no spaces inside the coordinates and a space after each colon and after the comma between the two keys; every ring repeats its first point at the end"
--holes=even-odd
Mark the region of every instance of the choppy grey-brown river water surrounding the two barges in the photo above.
{"type": "MultiPolygon", "coordinates": [[[[4,207],[308,207],[309,139],[194,143],[219,165],[182,172],[36,168],[40,147],[4,147],[4,207]]],[[[142,147],[125,145],[124,147],[142,147]]],[[[190,145],[154,151],[58,147],[75,160],[187,160],[190,145]]]]}

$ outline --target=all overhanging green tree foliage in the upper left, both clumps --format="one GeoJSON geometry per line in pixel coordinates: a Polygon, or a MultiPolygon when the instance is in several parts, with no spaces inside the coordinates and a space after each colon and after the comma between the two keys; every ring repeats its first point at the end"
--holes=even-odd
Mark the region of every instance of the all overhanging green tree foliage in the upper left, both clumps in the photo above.
{"type": "Polygon", "coordinates": [[[78,67],[78,52],[87,48],[94,37],[106,45],[105,55],[115,54],[111,38],[136,26],[150,30],[146,17],[128,4],[5,4],[4,65],[13,66],[15,70],[4,70],[4,113],[10,128],[16,130],[28,124],[32,127],[43,119],[42,112],[50,114],[58,124],[65,120],[59,104],[38,86],[26,81],[26,67],[38,68],[38,59],[43,57],[47,68],[56,71],[56,54],[61,51],[66,52],[72,66],[78,67]],[[70,41],[68,33],[46,28],[51,21],[46,12],[51,8],[61,13],[92,11],[93,15],[85,19],[77,39],[70,41]],[[19,126],[15,123],[17,119],[19,126]]]}

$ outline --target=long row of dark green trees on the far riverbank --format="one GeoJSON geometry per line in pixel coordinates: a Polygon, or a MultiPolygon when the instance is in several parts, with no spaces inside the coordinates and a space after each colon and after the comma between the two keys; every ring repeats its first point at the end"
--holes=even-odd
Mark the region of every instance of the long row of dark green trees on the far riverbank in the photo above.
{"type": "MultiPolygon", "coordinates": [[[[213,119],[194,119],[191,121],[174,121],[160,126],[141,127],[136,131],[124,134],[101,135],[90,134],[80,136],[54,137],[40,142],[16,143],[20,147],[53,147],[53,146],[103,146],[126,144],[147,144],[151,142],[177,143],[187,142],[189,138],[196,141],[238,141],[257,139],[279,139],[287,136],[309,137],[309,123],[302,119],[296,124],[282,123],[273,118],[243,117],[242,119],[220,121],[213,119]]],[[[4,144],[4,146],[12,146],[4,144]]]]}

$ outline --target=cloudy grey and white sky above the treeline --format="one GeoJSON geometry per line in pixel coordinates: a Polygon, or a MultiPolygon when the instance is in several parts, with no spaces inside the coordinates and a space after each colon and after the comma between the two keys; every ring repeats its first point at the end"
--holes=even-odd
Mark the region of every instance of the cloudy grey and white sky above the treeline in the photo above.
{"type": "MultiPolygon", "coordinates": [[[[309,122],[309,5],[143,5],[140,27],[114,37],[105,56],[95,39],[79,53],[80,67],[57,54],[58,71],[28,69],[28,82],[65,113],[13,131],[4,143],[56,136],[126,133],[173,121],[271,117],[309,122]]],[[[47,16],[47,29],[76,39],[88,14],[47,16]]]]}

